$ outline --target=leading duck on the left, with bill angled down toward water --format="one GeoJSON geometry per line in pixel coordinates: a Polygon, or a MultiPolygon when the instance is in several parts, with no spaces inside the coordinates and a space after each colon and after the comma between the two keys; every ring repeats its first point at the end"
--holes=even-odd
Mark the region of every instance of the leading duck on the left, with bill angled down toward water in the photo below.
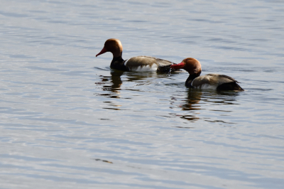
{"type": "MultiPolygon", "coordinates": [[[[142,55],[124,60],[122,58],[122,50],[121,41],[116,38],[110,38],[104,43],[104,48],[102,48],[101,52],[99,52],[96,57],[107,52],[112,53],[113,58],[111,61],[111,68],[123,71],[170,72],[170,65],[174,64],[168,60],[142,55]]],[[[171,71],[175,71],[175,69],[172,69],[171,71]]]]}

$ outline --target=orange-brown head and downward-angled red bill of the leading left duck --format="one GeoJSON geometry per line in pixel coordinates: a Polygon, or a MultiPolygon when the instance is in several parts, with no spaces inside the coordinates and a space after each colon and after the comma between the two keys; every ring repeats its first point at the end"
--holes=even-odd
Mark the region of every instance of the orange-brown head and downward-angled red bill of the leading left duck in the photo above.
{"type": "Polygon", "coordinates": [[[119,39],[110,38],[104,43],[104,48],[102,48],[101,52],[99,52],[96,57],[107,52],[111,52],[114,57],[119,57],[122,55],[122,50],[123,48],[119,39]]]}

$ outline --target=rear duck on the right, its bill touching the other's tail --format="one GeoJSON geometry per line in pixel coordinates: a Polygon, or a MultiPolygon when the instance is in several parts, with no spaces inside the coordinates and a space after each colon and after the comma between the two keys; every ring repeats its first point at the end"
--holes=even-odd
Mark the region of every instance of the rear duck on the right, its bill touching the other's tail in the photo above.
{"type": "Polygon", "coordinates": [[[212,89],[212,90],[234,90],[244,91],[233,77],[219,74],[201,74],[201,64],[195,58],[185,58],[181,63],[170,65],[173,69],[184,69],[190,75],[185,81],[185,86],[197,89],[212,89]]]}

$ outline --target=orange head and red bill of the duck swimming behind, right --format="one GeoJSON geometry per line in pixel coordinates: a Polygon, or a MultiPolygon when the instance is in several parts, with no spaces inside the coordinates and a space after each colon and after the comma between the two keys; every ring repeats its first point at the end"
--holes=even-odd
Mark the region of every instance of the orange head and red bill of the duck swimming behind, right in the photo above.
{"type": "Polygon", "coordinates": [[[171,65],[170,68],[184,69],[192,75],[199,76],[201,74],[200,61],[196,60],[195,58],[185,58],[181,63],[177,65],[171,65]]]}

